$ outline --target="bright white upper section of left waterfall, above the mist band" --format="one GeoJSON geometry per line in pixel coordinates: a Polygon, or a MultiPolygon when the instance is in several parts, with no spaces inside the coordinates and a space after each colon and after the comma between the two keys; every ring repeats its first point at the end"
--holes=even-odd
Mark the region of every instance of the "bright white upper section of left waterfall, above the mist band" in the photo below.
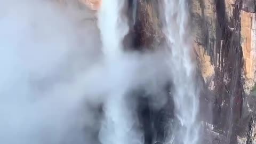
{"type": "Polygon", "coordinates": [[[122,41],[129,30],[126,19],[121,15],[124,2],[124,0],[102,1],[98,13],[102,51],[106,58],[119,57],[123,53],[122,41]]]}

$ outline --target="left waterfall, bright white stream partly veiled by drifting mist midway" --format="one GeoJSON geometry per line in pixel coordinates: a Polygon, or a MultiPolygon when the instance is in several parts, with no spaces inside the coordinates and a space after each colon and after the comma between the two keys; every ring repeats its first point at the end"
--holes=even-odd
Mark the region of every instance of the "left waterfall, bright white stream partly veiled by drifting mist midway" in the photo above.
{"type": "MultiPolygon", "coordinates": [[[[123,67],[122,63],[124,58],[122,42],[129,30],[126,18],[122,15],[124,3],[124,0],[102,1],[98,13],[102,51],[109,68],[106,73],[115,75],[115,77],[119,76],[120,78],[115,78],[119,81],[127,76],[126,69],[129,70],[123,67]]],[[[99,134],[102,144],[140,143],[141,137],[133,129],[133,113],[125,102],[125,88],[125,84],[116,85],[113,91],[109,92],[108,99],[104,103],[105,119],[103,119],[99,134]]]]}

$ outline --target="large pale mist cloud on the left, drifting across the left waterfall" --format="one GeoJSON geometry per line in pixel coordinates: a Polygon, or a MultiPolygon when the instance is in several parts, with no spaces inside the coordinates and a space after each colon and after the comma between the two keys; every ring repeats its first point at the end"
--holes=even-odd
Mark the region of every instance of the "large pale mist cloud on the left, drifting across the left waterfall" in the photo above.
{"type": "Polygon", "coordinates": [[[0,143],[115,143],[108,118],[143,137],[125,100],[136,89],[165,97],[163,53],[106,62],[93,17],[51,1],[0,1],[0,143]]]}

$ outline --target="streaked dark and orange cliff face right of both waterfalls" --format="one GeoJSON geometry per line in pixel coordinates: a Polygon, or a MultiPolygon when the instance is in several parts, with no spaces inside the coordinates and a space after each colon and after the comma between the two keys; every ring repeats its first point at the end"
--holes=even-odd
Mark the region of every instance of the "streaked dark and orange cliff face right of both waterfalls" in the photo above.
{"type": "Polygon", "coordinates": [[[254,129],[255,2],[194,0],[191,16],[194,48],[208,94],[202,97],[211,100],[213,110],[212,122],[206,121],[226,142],[250,143],[254,129]]]}

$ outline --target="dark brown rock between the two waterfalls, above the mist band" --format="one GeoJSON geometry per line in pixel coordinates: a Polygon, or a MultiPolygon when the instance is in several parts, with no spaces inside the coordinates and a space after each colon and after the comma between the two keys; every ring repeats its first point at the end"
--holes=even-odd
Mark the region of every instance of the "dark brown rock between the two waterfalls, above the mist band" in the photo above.
{"type": "Polygon", "coordinates": [[[163,38],[157,1],[138,0],[136,20],[133,26],[135,47],[154,49],[163,38]]]}

